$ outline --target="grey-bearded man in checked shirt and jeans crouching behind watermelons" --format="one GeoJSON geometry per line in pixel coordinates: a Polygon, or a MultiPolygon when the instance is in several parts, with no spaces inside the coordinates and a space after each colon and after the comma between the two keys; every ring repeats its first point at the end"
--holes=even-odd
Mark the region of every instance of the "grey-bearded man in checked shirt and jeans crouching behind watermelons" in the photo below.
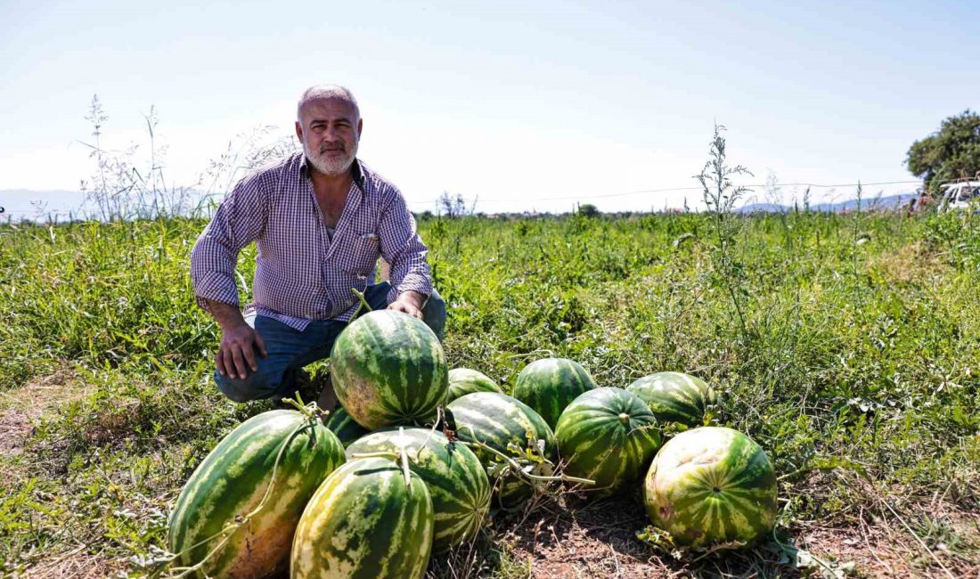
{"type": "MultiPolygon", "coordinates": [[[[329,356],[365,292],[424,319],[442,337],[445,304],[432,289],[427,249],[398,188],[357,159],[363,121],[342,86],[307,89],[297,107],[303,153],[242,179],[191,252],[198,304],[221,325],[215,380],[235,402],[291,397],[304,365],[329,356]],[[254,323],[239,311],[234,266],[255,241],[254,323]],[[374,283],[378,257],[390,283],[374,283]]],[[[336,405],[332,387],[320,407],[336,405]]]]}

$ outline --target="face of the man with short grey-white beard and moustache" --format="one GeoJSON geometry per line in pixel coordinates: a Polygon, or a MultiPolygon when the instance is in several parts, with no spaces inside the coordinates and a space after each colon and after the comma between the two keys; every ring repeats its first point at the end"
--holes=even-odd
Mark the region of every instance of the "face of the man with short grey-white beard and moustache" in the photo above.
{"type": "Polygon", "coordinates": [[[362,122],[353,105],[343,99],[307,103],[296,121],[296,136],[307,159],[319,172],[343,174],[358,154],[362,122]]]}

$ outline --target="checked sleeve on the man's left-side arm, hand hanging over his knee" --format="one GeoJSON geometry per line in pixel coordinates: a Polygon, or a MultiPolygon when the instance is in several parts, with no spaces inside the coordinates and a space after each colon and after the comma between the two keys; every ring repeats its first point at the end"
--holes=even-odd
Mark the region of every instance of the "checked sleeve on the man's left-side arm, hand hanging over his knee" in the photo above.
{"type": "Polygon", "coordinates": [[[205,311],[205,300],[238,306],[235,262],[242,248],[258,239],[265,229],[268,202],[263,189],[260,174],[239,181],[191,250],[194,297],[205,311]]]}

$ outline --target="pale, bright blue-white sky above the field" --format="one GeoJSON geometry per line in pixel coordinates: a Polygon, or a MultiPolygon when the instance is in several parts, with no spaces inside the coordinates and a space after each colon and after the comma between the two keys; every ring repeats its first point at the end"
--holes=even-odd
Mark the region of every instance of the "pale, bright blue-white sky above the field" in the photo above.
{"type": "Polygon", "coordinates": [[[0,0],[0,205],[92,174],[94,95],[104,149],[148,167],[152,107],[190,186],[240,135],[293,134],[318,83],[354,91],[360,158],[415,211],[696,206],[715,122],[744,182],[843,200],[913,180],[909,145],[980,109],[977,22],[962,1],[0,0]]]}

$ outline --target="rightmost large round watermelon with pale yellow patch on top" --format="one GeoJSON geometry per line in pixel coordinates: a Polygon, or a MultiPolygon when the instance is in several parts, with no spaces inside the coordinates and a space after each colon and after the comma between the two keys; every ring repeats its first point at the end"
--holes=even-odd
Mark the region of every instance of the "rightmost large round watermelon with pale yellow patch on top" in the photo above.
{"type": "Polygon", "coordinates": [[[751,438],[731,428],[681,432],[654,458],[644,503],[679,545],[751,544],[776,521],[776,476],[751,438]]]}

